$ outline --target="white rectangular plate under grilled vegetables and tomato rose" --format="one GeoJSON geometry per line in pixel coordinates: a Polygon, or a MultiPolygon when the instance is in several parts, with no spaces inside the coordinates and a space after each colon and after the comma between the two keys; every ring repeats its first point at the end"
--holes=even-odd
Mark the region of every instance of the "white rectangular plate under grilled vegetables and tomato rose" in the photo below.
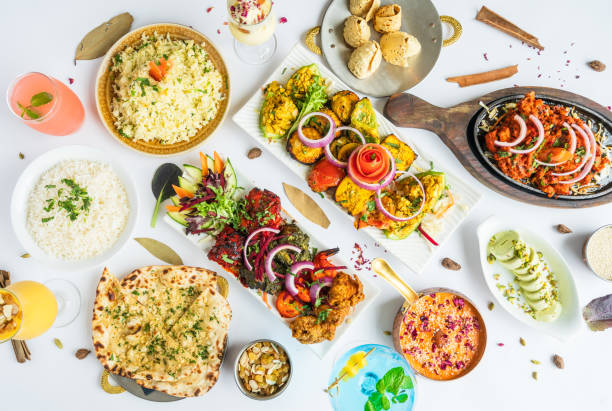
{"type": "MultiPolygon", "coordinates": [[[[349,89],[348,86],[342,83],[331,71],[329,71],[321,62],[321,59],[315,56],[313,53],[302,47],[300,44],[297,44],[291,50],[291,53],[283,60],[283,62],[274,70],[272,75],[266,80],[263,84],[268,84],[273,80],[281,81],[286,83],[289,77],[293,74],[295,70],[298,68],[316,63],[321,70],[321,74],[324,78],[331,82],[329,87],[329,94],[332,95],[340,90],[349,89]]],[[[304,164],[300,164],[287,153],[285,150],[285,144],[283,143],[269,143],[263,139],[263,135],[259,129],[259,109],[263,104],[263,93],[261,89],[263,87],[257,88],[257,92],[247,101],[247,103],[238,111],[233,120],[236,124],[246,131],[251,138],[253,138],[258,143],[263,144],[263,146],[274,155],[279,161],[283,162],[289,169],[291,169],[295,174],[302,177],[304,180],[304,184],[302,189],[305,192],[309,192],[310,188],[308,184],[306,184],[306,176],[310,170],[309,166],[304,164]]],[[[430,160],[433,159],[432,156],[428,156],[423,153],[417,146],[415,146],[410,139],[402,136],[400,131],[391,124],[389,120],[385,118],[381,113],[376,112],[376,117],[379,122],[378,130],[381,136],[387,136],[389,134],[395,134],[399,138],[402,139],[405,143],[409,144],[412,149],[419,155],[417,160],[411,167],[411,171],[424,171],[429,170],[430,168],[430,160]]],[[[434,166],[436,170],[444,171],[444,168],[441,164],[434,160],[434,166]]],[[[446,173],[446,181],[448,185],[451,187],[451,191],[453,196],[455,197],[456,203],[458,206],[452,207],[442,219],[442,224],[440,227],[440,231],[438,233],[430,233],[433,238],[438,242],[438,244],[443,244],[450,235],[455,231],[455,229],[461,224],[461,222],[468,215],[469,211],[474,207],[474,205],[480,199],[480,193],[476,191],[472,186],[466,184],[461,181],[459,178],[455,177],[450,173],[446,173]]],[[[331,203],[334,204],[339,210],[342,211],[344,215],[346,215],[345,224],[352,227],[353,225],[353,217],[351,217],[346,211],[336,203],[331,197],[326,195],[326,198],[329,198],[331,203]]],[[[377,241],[380,245],[382,245],[387,251],[391,254],[399,258],[404,264],[406,264],[410,269],[415,271],[416,273],[421,273],[429,259],[434,255],[435,249],[429,245],[427,240],[421,238],[417,233],[413,233],[408,238],[404,240],[390,240],[385,237],[384,233],[381,230],[376,228],[366,228],[363,229],[370,237],[372,237],[375,241],[377,241]]]]}

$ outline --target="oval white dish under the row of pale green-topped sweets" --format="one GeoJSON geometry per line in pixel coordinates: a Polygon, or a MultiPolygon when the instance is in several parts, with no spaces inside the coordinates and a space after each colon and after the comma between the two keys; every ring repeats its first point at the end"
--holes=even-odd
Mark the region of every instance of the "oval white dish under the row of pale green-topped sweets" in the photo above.
{"type": "Polygon", "coordinates": [[[578,293],[576,292],[574,278],[572,277],[572,272],[565,262],[565,259],[553,246],[542,237],[526,228],[517,226],[511,221],[501,220],[495,216],[489,217],[481,223],[478,226],[477,233],[482,274],[487,286],[489,286],[489,290],[491,290],[497,302],[504,307],[506,311],[512,314],[517,320],[530,327],[541,330],[563,341],[568,340],[580,330],[582,318],[580,316],[580,302],[578,301],[578,293]],[[555,274],[557,286],[559,287],[560,302],[563,306],[561,316],[555,321],[550,323],[536,321],[519,307],[508,302],[503,296],[503,291],[496,287],[497,282],[493,278],[494,274],[500,274],[500,282],[502,284],[511,283],[514,279],[514,275],[502,267],[498,262],[494,262],[493,264],[487,262],[487,244],[489,240],[494,234],[505,230],[517,231],[528,245],[542,252],[548,267],[555,274]]]}

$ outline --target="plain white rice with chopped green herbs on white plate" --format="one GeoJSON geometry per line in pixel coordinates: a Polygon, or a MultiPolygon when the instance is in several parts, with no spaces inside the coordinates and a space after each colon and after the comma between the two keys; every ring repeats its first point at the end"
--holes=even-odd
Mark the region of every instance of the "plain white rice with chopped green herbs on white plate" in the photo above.
{"type": "Polygon", "coordinates": [[[127,192],[110,165],[66,160],[45,171],[32,189],[26,226],[45,253],[61,260],[83,260],[103,253],[117,242],[129,213],[127,192]],[[83,200],[72,202],[78,214],[73,221],[66,207],[58,205],[72,193],[64,179],[76,183],[86,191],[83,198],[90,199],[87,210],[82,208],[83,200]]]}

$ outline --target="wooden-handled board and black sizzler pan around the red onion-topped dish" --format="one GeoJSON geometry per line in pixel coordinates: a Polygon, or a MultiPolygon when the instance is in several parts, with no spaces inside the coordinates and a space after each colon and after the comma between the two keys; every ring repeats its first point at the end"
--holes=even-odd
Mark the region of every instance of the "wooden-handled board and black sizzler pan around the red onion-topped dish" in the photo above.
{"type": "Polygon", "coordinates": [[[583,119],[603,124],[606,142],[612,143],[612,113],[608,109],[578,94],[548,87],[506,88],[450,108],[437,107],[412,94],[400,93],[389,98],[384,112],[397,126],[422,128],[436,133],[476,179],[506,197],[533,205],[560,208],[593,207],[611,202],[610,179],[604,179],[597,191],[588,194],[549,198],[542,191],[504,175],[485,155],[485,133],[478,126],[487,113],[479,102],[493,108],[518,101],[530,91],[535,91],[536,98],[541,98],[547,104],[573,106],[583,119]]]}

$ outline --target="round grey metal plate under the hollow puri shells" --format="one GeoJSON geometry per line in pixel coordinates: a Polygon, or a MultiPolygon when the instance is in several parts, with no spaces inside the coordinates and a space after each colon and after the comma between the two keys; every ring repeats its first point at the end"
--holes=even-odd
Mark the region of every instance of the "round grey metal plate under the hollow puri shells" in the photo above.
{"type": "MultiPolygon", "coordinates": [[[[344,20],[351,15],[347,0],[333,0],[321,25],[323,54],[332,71],[350,88],[372,97],[387,97],[414,87],[431,71],[442,47],[442,24],[430,0],[382,0],[381,5],[398,4],[402,8],[401,30],[421,43],[421,52],[410,58],[409,67],[399,67],[384,59],[374,74],[363,80],[349,71],[347,63],[353,48],[344,42],[344,20]],[[332,47],[333,46],[333,47],[332,47]]],[[[368,23],[371,40],[380,40],[372,20],[368,23]]]]}

